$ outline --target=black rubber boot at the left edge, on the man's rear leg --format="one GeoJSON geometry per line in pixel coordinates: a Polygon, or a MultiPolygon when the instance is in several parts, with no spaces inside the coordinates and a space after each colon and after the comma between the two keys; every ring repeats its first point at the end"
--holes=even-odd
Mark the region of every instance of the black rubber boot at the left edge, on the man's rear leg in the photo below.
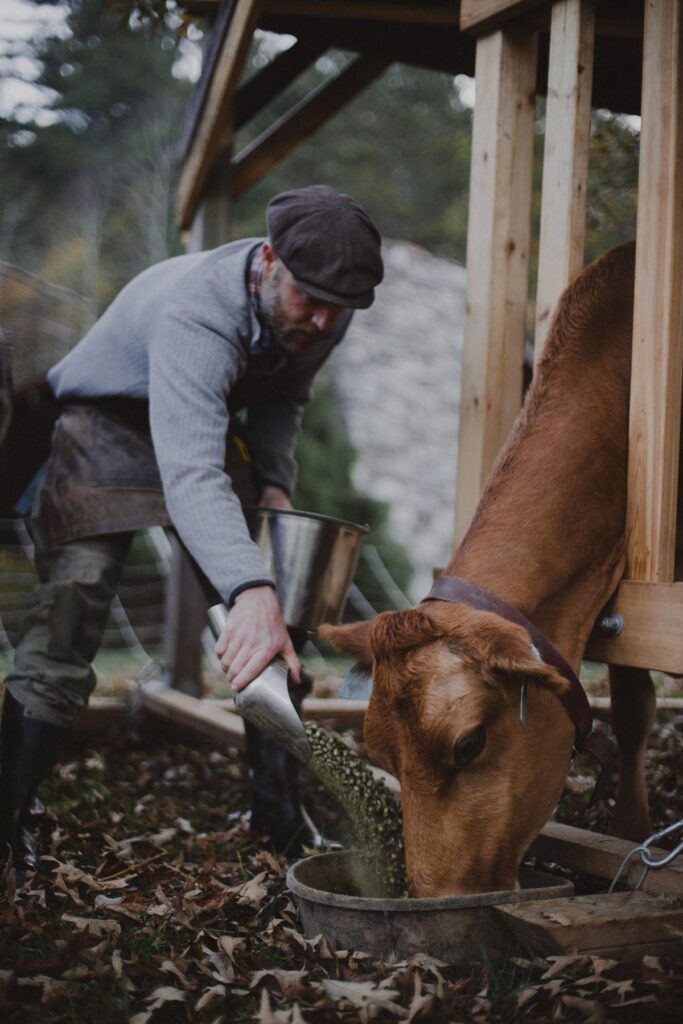
{"type": "Polygon", "coordinates": [[[17,880],[35,867],[28,831],[31,807],[69,731],[29,717],[24,705],[5,690],[0,724],[0,864],[4,866],[11,851],[17,880]]]}

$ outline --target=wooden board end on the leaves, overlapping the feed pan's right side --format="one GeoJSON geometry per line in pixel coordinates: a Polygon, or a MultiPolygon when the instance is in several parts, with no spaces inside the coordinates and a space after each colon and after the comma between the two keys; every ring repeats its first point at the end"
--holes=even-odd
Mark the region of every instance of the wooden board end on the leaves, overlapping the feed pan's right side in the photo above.
{"type": "Polygon", "coordinates": [[[516,939],[542,955],[600,953],[636,959],[678,952],[683,943],[683,899],[649,893],[572,896],[495,908],[516,939]]]}

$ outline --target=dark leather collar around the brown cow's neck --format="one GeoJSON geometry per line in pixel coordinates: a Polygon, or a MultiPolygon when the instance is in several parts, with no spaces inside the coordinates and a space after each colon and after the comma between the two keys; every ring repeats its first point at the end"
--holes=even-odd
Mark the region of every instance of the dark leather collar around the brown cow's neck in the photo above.
{"type": "Polygon", "coordinates": [[[522,615],[512,605],[497,597],[496,594],[492,594],[490,591],[484,590],[482,587],[477,587],[467,580],[461,580],[459,577],[439,577],[434,582],[425,601],[450,601],[454,604],[467,604],[470,608],[478,608],[480,611],[494,611],[502,618],[507,618],[511,623],[523,626],[542,660],[546,665],[550,665],[553,669],[556,669],[569,683],[569,688],[564,693],[559,693],[558,697],[564,705],[577,730],[574,748],[578,751],[589,750],[599,760],[602,760],[593,749],[593,739],[597,734],[591,732],[593,714],[586,690],[571,667],[564,660],[550,640],[543,635],[541,630],[537,629],[533,623],[529,622],[525,615],[522,615]],[[587,742],[587,740],[590,741],[587,742]]]}

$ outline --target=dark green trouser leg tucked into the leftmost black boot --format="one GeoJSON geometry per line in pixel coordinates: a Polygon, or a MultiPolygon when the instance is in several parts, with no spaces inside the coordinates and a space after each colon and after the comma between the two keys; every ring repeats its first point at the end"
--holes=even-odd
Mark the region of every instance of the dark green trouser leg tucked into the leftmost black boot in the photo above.
{"type": "Polygon", "coordinates": [[[95,686],[99,648],[132,534],[36,546],[36,587],[5,679],[29,715],[70,726],[95,686]]]}

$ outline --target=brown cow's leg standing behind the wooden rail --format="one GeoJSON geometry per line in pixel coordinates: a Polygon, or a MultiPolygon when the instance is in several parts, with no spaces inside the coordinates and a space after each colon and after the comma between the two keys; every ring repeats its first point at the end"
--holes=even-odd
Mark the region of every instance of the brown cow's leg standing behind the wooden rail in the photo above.
{"type": "Polygon", "coordinates": [[[609,667],[611,724],[618,746],[618,786],[609,830],[641,842],[651,833],[645,753],[654,723],[654,686],[644,669],[609,667]]]}

